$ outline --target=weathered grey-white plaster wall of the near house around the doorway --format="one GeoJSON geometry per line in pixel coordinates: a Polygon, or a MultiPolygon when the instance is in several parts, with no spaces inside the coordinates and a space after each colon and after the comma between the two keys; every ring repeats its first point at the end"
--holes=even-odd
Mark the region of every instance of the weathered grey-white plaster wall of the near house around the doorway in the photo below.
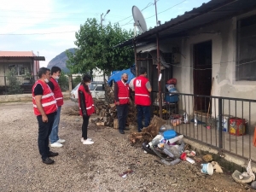
{"type": "MultiPolygon", "coordinates": [[[[236,80],[236,22],[249,15],[256,15],[256,11],[201,27],[189,32],[188,37],[181,38],[180,48],[183,56],[180,64],[173,66],[173,78],[177,79],[179,92],[194,94],[193,45],[212,40],[212,96],[256,99],[256,81],[236,80]]],[[[218,101],[215,102],[217,104],[212,101],[212,106],[215,105],[212,113],[218,115],[218,101]]],[[[225,100],[224,113],[251,119],[251,125],[256,122],[256,104],[253,102],[249,106],[249,102],[229,103],[225,100]]]]}

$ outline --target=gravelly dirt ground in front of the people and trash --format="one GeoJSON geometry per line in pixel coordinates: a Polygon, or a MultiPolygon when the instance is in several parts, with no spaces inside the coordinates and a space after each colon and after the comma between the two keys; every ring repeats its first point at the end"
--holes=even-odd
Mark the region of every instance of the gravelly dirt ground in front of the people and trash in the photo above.
{"type": "Polygon", "coordinates": [[[160,158],[143,153],[107,127],[89,126],[93,145],[80,142],[82,119],[68,112],[77,108],[66,101],[61,109],[59,136],[66,140],[53,158],[42,163],[38,153],[38,122],[32,103],[0,104],[0,191],[253,191],[233,181],[230,174],[203,175],[199,166],[181,162],[165,166],[160,158]],[[132,170],[127,177],[123,172],[132,170]]]}

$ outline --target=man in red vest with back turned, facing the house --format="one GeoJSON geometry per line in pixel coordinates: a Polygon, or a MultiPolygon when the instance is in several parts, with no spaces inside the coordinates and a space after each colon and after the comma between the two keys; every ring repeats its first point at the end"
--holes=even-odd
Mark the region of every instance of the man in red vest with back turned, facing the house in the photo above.
{"type": "Polygon", "coordinates": [[[150,92],[151,85],[147,77],[147,68],[141,67],[140,76],[133,81],[133,89],[135,91],[135,104],[137,105],[137,125],[138,131],[143,129],[143,115],[145,118],[144,127],[148,127],[150,123],[150,92]]]}

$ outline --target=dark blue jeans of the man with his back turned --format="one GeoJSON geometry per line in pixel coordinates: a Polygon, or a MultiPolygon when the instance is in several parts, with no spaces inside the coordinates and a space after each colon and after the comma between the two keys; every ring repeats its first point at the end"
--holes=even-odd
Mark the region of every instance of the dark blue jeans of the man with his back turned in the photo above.
{"type": "Polygon", "coordinates": [[[137,105],[137,131],[142,131],[143,127],[147,127],[150,123],[150,106],[137,105]],[[145,125],[143,126],[143,115],[145,125]]]}

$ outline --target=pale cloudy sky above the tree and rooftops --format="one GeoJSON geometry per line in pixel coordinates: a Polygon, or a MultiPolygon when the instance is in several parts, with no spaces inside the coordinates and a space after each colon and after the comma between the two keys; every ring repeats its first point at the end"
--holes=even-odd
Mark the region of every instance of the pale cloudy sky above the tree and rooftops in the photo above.
{"type": "MultiPolygon", "coordinates": [[[[209,0],[158,0],[158,20],[163,24],[207,2],[209,0]]],[[[136,5],[138,9],[144,9],[148,28],[154,27],[153,3],[154,0],[1,0],[0,50],[32,50],[45,57],[40,66],[46,67],[56,55],[75,47],[75,32],[87,18],[100,21],[101,14],[105,15],[108,9],[110,12],[103,25],[119,22],[125,29],[132,29],[131,8],[136,5]]]]}

